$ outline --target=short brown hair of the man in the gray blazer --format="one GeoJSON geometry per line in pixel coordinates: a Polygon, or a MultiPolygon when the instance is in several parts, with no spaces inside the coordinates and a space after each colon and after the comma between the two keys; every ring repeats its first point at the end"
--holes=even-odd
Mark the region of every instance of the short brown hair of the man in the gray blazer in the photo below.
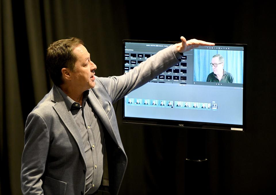
{"type": "Polygon", "coordinates": [[[81,39],[72,37],[53,42],[47,49],[46,67],[53,83],[60,86],[62,81],[62,68],[74,71],[77,56],[73,50],[78,45],[84,45],[81,39]]]}

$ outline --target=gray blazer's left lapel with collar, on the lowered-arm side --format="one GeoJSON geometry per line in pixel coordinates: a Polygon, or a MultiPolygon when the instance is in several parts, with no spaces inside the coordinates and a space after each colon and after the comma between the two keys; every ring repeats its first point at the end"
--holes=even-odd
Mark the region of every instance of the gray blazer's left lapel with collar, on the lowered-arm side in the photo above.
{"type": "Polygon", "coordinates": [[[68,110],[66,103],[64,102],[64,99],[62,98],[62,95],[58,91],[57,87],[54,85],[51,93],[51,100],[53,102],[56,102],[53,105],[53,108],[57,112],[57,114],[60,116],[62,122],[67,127],[67,129],[70,131],[72,136],[74,137],[76,143],[78,144],[79,150],[81,152],[81,155],[83,156],[84,162],[86,164],[86,158],[85,158],[85,151],[83,146],[83,140],[81,138],[80,129],[78,125],[76,124],[70,110],[68,110]]]}

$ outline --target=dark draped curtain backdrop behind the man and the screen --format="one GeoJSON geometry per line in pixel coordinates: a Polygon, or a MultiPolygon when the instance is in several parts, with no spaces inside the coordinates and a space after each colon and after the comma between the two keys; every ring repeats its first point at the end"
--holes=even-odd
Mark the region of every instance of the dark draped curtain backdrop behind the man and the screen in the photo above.
{"type": "Polygon", "coordinates": [[[248,44],[246,132],[122,124],[119,101],[114,106],[129,160],[119,194],[274,194],[275,3],[210,4],[0,0],[0,194],[21,194],[26,117],[52,86],[45,70],[50,43],[83,39],[97,76],[106,77],[122,74],[122,39],[178,41],[181,35],[248,44]],[[208,162],[197,171],[185,161],[190,157],[208,162]]]}

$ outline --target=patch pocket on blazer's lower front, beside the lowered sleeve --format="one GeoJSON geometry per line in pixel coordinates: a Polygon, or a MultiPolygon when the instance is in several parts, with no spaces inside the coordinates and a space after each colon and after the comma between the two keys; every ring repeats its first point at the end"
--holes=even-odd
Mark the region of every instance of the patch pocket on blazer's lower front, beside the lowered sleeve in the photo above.
{"type": "Polygon", "coordinates": [[[45,176],[43,192],[45,195],[65,195],[67,183],[45,176]]]}

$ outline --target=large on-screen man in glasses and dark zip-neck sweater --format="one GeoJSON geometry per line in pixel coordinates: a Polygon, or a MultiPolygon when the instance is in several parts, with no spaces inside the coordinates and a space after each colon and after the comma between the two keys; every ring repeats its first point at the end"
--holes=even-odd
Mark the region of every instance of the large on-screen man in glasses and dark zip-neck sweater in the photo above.
{"type": "Polygon", "coordinates": [[[208,75],[206,82],[233,83],[233,75],[223,69],[223,56],[220,54],[214,55],[210,65],[213,68],[213,72],[208,75]]]}

